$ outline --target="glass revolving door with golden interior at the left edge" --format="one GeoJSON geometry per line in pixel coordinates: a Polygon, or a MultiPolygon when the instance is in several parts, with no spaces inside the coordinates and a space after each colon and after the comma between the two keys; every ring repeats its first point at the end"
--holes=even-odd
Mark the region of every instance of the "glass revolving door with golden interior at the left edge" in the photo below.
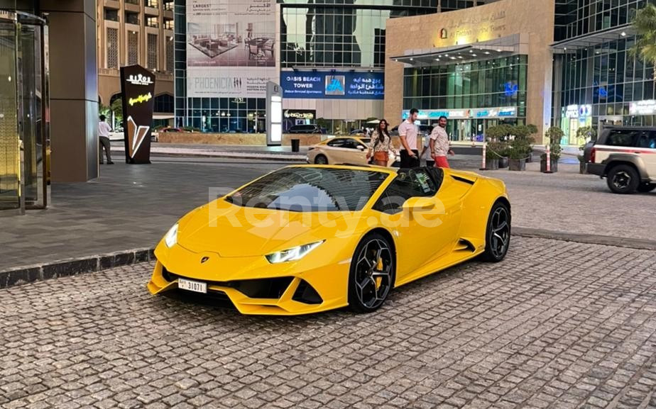
{"type": "Polygon", "coordinates": [[[48,201],[48,28],[0,11],[0,210],[48,201]]]}

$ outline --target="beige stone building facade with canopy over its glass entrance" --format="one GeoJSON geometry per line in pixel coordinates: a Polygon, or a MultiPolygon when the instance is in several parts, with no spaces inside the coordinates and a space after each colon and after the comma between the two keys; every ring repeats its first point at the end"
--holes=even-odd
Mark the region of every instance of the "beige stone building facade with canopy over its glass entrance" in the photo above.
{"type": "MultiPolygon", "coordinates": [[[[482,142],[499,123],[551,122],[554,1],[499,0],[387,23],[385,116],[410,108],[448,119],[454,142],[482,142]]],[[[539,138],[539,137],[538,137],[539,138]]]]}

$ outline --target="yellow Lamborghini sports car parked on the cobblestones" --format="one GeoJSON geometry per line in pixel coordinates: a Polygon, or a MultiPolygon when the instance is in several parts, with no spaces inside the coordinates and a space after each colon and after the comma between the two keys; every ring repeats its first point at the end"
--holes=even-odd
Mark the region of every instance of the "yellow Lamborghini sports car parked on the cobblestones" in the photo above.
{"type": "Polygon", "coordinates": [[[284,167],[182,217],[148,291],[227,298],[244,314],[379,308],[390,290],[510,243],[503,181],[452,169],[284,167]]]}

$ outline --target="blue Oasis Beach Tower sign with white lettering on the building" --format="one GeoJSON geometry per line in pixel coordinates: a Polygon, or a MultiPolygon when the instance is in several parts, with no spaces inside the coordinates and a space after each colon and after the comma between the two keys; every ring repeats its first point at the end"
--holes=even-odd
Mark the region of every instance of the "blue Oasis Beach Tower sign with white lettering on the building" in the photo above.
{"type": "Polygon", "coordinates": [[[284,98],[384,99],[383,72],[280,72],[284,98]]]}

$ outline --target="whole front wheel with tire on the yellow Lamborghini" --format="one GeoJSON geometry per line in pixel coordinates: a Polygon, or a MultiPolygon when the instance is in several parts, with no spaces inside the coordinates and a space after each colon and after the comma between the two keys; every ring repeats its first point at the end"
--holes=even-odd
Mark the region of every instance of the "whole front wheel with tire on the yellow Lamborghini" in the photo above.
{"type": "Polygon", "coordinates": [[[359,242],[349,271],[349,307],[356,313],[371,313],[387,299],[396,273],[396,257],[389,239],[379,233],[359,242]]]}

